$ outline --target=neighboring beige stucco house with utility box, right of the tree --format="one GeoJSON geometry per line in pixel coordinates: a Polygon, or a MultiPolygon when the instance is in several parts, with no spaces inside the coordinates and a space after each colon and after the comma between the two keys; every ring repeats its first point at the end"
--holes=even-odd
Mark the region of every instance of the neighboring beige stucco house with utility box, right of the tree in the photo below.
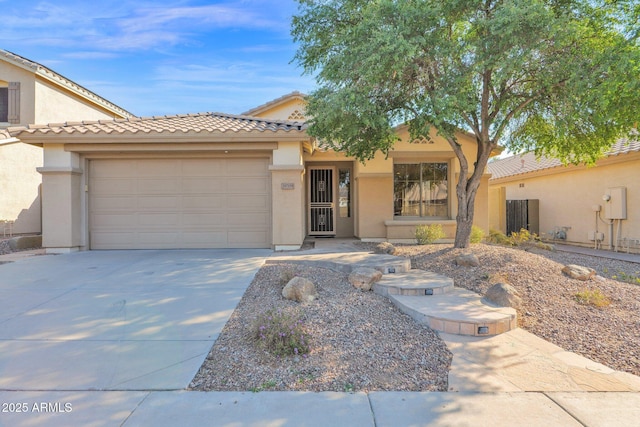
{"type": "Polygon", "coordinates": [[[640,250],[640,141],[619,141],[594,166],[526,153],[488,171],[491,228],[528,226],[559,242],[640,250]]]}

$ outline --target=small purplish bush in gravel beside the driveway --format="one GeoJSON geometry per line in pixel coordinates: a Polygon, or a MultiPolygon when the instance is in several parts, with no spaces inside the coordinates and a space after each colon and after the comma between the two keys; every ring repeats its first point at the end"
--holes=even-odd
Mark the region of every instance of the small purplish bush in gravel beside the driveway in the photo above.
{"type": "Polygon", "coordinates": [[[282,310],[267,310],[252,325],[252,336],[259,348],[275,356],[309,353],[309,339],[300,316],[282,310]]]}

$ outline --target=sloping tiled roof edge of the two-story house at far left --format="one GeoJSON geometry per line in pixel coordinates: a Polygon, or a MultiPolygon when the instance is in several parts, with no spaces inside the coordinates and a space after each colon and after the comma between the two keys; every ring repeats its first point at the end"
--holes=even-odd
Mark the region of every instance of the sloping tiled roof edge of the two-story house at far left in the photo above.
{"type": "Polygon", "coordinates": [[[13,52],[6,51],[4,49],[0,49],[0,60],[4,60],[13,64],[17,67],[20,67],[24,70],[31,71],[34,74],[58,85],[62,86],[65,89],[75,93],[76,95],[88,99],[91,102],[100,105],[102,108],[105,108],[108,111],[112,111],[121,117],[134,117],[134,114],[125,110],[122,107],[117,106],[116,104],[104,99],[103,97],[91,92],[89,89],[86,89],[79,84],[69,80],[68,78],[52,71],[51,69],[45,67],[42,64],[38,64],[37,62],[33,62],[26,58],[23,58],[20,55],[17,55],[13,52]]]}

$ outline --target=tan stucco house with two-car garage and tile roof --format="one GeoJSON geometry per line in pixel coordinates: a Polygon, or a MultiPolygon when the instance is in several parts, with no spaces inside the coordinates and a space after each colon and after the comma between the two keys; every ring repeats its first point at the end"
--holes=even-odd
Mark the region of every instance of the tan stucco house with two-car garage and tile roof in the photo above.
{"type": "MultiPolygon", "coordinates": [[[[366,164],[319,147],[299,92],[221,113],[10,128],[44,150],[49,252],[299,248],[306,236],[413,241],[418,224],[455,233],[459,167],[448,143],[409,141],[366,164]]],[[[469,157],[475,143],[461,133],[469,157]]],[[[475,223],[489,225],[488,179],[475,223]]]]}

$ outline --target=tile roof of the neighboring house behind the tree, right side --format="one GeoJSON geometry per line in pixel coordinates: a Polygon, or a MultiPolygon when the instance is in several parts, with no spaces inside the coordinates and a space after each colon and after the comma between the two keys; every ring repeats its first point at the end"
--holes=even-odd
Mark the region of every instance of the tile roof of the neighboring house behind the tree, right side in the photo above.
{"type": "MultiPolygon", "coordinates": [[[[613,144],[605,156],[619,156],[632,152],[640,152],[640,141],[620,140],[613,144]]],[[[537,158],[535,153],[528,152],[490,162],[487,169],[491,174],[491,180],[494,180],[559,166],[563,164],[558,159],[545,156],[537,158]]]]}

